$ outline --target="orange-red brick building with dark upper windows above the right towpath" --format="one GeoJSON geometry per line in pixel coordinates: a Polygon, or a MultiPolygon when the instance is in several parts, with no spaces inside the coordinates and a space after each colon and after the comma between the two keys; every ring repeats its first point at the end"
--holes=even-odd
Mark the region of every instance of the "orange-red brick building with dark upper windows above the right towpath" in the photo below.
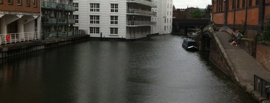
{"type": "Polygon", "coordinates": [[[212,0],[216,27],[245,31],[244,35],[251,39],[262,32],[262,23],[269,11],[270,0],[212,0]]]}

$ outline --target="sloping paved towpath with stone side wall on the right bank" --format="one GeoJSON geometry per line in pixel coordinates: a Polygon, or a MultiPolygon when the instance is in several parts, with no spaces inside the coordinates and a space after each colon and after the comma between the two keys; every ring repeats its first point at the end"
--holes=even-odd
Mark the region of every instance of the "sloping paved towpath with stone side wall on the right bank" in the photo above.
{"type": "MultiPolygon", "coordinates": [[[[270,81],[270,73],[252,56],[251,52],[241,46],[231,45],[228,40],[231,34],[225,31],[212,32],[209,59],[217,65],[223,72],[236,81],[245,91],[251,94],[259,102],[270,102],[265,97],[262,89],[266,82],[260,84],[260,90],[254,90],[258,85],[254,84],[254,76],[259,76],[266,81],[270,81]],[[251,54],[250,54],[251,53],[251,54]]],[[[257,80],[256,80],[257,81],[257,80]]],[[[258,83],[258,82],[256,82],[258,83]]]]}

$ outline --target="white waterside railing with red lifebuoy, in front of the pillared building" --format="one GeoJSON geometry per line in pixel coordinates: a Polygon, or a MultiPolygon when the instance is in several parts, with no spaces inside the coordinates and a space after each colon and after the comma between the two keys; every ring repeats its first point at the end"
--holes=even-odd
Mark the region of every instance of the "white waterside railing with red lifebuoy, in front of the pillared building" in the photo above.
{"type": "Polygon", "coordinates": [[[9,33],[0,34],[0,45],[7,43],[16,43],[29,40],[40,39],[40,32],[22,32],[22,33],[9,33]]]}

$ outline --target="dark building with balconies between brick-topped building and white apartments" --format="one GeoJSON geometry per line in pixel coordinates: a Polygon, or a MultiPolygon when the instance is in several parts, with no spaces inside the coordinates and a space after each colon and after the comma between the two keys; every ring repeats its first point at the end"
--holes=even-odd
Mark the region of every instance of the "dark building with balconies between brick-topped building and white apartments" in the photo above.
{"type": "Polygon", "coordinates": [[[57,37],[77,35],[73,24],[73,0],[41,0],[42,37],[52,39],[57,37]]]}

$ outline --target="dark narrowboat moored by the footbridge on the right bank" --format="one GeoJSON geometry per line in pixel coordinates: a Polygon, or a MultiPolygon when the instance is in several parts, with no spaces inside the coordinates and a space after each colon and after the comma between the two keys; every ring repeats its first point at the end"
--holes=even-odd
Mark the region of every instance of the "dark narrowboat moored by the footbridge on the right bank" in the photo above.
{"type": "Polygon", "coordinates": [[[191,38],[184,38],[182,47],[189,51],[198,50],[196,41],[191,38]]]}

